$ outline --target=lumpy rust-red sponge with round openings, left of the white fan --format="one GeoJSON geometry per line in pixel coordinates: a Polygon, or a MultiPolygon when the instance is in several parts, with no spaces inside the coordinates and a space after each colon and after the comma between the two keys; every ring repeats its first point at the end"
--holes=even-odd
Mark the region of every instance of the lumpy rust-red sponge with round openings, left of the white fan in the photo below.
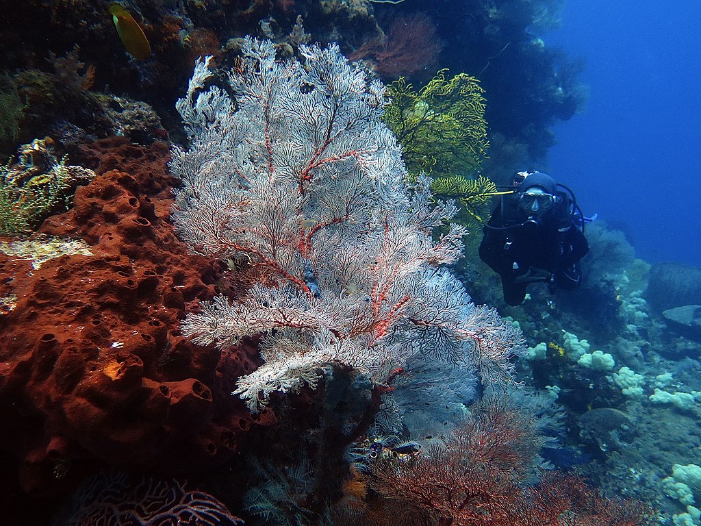
{"type": "MultiPolygon", "coordinates": [[[[61,490],[76,466],[184,473],[229,459],[254,424],[231,396],[255,345],[219,353],[187,342],[186,310],[215,293],[217,264],[191,255],[168,221],[168,146],[123,140],[83,151],[98,175],[41,234],[82,238],[93,256],[32,269],[0,253],[0,450],[29,493],[61,490]],[[71,468],[73,466],[73,468],[71,468]]],[[[231,279],[231,278],[229,278],[231,279]]]]}

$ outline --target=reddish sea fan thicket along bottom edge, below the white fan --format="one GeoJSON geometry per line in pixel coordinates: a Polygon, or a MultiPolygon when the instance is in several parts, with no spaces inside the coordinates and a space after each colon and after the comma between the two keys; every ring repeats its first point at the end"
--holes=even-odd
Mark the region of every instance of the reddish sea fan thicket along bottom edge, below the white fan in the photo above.
{"type": "Polygon", "coordinates": [[[652,526],[640,502],[606,499],[577,476],[547,474],[528,486],[538,447],[533,422],[503,400],[472,408],[472,420],[428,454],[372,466],[376,492],[363,523],[384,526],[652,526]]]}

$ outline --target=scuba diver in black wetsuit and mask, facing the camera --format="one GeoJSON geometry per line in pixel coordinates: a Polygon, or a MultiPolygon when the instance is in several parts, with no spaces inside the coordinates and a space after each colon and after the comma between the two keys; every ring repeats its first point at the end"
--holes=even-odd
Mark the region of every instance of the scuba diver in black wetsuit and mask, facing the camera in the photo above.
{"type": "Polygon", "coordinates": [[[572,191],[545,173],[519,172],[499,195],[479,257],[501,276],[504,301],[521,304],[529,283],[547,283],[550,292],[578,287],[579,260],[589,251],[583,234],[589,220],[572,191]]]}

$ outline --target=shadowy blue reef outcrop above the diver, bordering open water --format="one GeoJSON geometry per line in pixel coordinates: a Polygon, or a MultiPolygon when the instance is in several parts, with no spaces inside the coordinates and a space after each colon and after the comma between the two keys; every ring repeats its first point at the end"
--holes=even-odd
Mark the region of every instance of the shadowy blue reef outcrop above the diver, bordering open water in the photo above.
{"type": "MultiPolygon", "coordinates": [[[[419,8],[440,27],[445,44],[441,67],[481,81],[489,100],[485,117],[490,132],[525,147],[529,162],[543,159],[554,141],[549,127],[570,119],[585,101],[585,90],[578,81],[583,66],[538,38],[540,30],[557,23],[562,1],[448,0],[420,7],[410,2],[374,4],[379,20],[395,20],[419,8]]],[[[498,156],[492,164],[496,159],[498,156]]],[[[512,173],[505,166],[499,171],[512,173]]]]}

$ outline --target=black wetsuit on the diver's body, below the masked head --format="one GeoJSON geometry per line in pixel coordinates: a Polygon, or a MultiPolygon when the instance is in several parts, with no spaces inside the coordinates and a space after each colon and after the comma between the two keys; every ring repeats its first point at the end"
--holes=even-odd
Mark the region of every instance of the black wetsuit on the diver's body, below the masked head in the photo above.
{"type": "Polygon", "coordinates": [[[589,251],[584,234],[571,219],[568,224],[552,215],[545,215],[537,224],[522,222],[506,222],[500,204],[484,227],[479,245],[479,257],[501,276],[505,302],[521,304],[526,287],[536,281],[576,288],[581,277],[578,262],[589,251]],[[503,229],[508,224],[513,226],[503,229]]]}

